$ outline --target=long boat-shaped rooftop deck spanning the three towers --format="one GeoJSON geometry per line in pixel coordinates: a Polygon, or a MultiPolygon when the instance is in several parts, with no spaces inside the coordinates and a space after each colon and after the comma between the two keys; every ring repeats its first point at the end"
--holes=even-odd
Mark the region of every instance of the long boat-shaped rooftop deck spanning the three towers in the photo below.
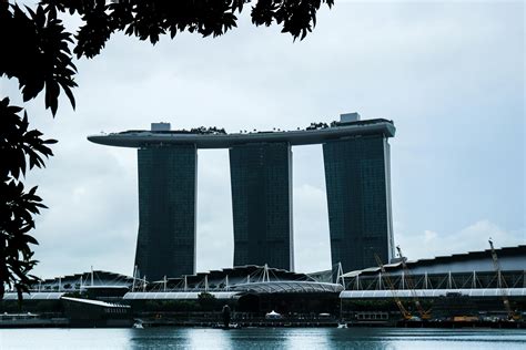
{"type": "Polygon", "coordinates": [[[320,144],[328,140],[358,135],[383,134],[393,137],[396,128],[392,121],[376,119],[352,123],[332,123],[332,126],[297,131],[261,131],[250,133],[199,133],[189,131],[127,131],[91,135],[88,140],[108,146],[140,148],[149,145],[195,145],[198,148],[230,148],[249,143],[286,142],[293,146],[320,144]]]}

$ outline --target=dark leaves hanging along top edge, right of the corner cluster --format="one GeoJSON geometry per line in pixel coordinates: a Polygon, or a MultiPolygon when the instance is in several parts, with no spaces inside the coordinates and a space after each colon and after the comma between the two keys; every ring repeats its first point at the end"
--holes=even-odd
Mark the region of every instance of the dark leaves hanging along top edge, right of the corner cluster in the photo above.
{"type": "Polygon", "coordinates": [[[219,37],[237,27],[237,13],[252,6],[255,25],[282,25],[294,40],[304,39],[316,24],[316,12],[334,0],[42,0],[48,11],[77,13],[84,24],[75,35],[78,58],[93,58],[115,31],[156,43],[161,35],[173,39],[188,31],[219,37]]]}

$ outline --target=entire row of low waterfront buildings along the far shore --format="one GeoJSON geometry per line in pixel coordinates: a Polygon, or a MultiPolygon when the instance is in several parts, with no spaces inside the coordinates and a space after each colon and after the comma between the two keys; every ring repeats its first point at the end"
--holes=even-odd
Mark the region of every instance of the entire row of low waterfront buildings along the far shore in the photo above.
{"type": "MultiPolygon", "coordinates": [[[[336,284],[331,271],[307,275],[267,266],[214,269],[150,284],[131,276],[95,270],[34,282],[30,294],[23,294],[24,310],[41,312],[47,308],[62,312],[64,297],[72,292],[112,303],[124,302],[132,305],[134,310],[166,302],[166,310],[170,310],[168,308],[178,305],[173,301],[199,302],[200,296],[206,292],[219,301],[219,310],[230,303],[236,310],[243,310],[241,312],[254,315],[273,309],[282,315],[307,315],[314,309],[318,313],[338,312],[340,319],[351,322],[361,318],[384,322],[386,315],[392,320],[402,318],[396,303],[399,299],[415,317],[419,312],[415,303],[418,300],[424,311],[431,312],[432,319],[439,322],[455,316],[476,316],[479,321],[494,322],[506,319],[506,298],[513,312],[522,315],[524,320],[526,246],[498,248],[495,255],[498,256],[498,270],[487,249],[418,260],[401,259],[385,264],[384,270],[371,266],[338,276],[336,284]],[[321,300],[324,301],[320,303],[321,300]]],[[[18,297],[14,290],[8,290],[0,302],[0,313],[19,310],[18,297]]]]}

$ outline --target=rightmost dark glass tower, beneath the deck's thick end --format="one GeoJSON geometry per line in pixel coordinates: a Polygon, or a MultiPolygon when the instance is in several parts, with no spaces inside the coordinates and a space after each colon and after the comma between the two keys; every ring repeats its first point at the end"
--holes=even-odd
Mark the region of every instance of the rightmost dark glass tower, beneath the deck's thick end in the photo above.
{"type": "Polygon", "coordinates": [[[345,272],[393,256],[390,145],[382,135],[323,145],[333,266],[345,272]]]}

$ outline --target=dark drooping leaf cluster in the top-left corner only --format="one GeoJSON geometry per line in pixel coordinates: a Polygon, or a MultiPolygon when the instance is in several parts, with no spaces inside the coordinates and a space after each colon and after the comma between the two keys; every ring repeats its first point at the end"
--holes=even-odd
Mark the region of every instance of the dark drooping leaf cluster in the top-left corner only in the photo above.
{"type": "Polygon", "coordinates": [[[0,76],[18,79],[24,102],[45,89],[45,109],[53,115],[61,87],[74,107],[71,37],[53,9],[38,6],[23,11],[18,4],[0,2],[0,76]]]}

